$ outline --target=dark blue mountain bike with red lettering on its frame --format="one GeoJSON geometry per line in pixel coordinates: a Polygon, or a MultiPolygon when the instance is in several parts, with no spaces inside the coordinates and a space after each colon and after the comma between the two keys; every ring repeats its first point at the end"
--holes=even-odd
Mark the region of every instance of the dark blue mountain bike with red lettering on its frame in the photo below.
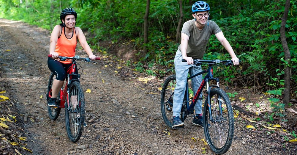
{"type": "MultiPolygon", "coordinates": [[[[187,62],[186,60],[182,60],[187,62]]],[[[230,148],[234,134],[233,110],[228,95],[219,88],[219,78],[213,75],[213,66],[233,65],[232,60],[193,60],[194,65],[208,65],[208,69],[201,71],[193,76],[188,77],[186,84],[186,92],[181,108],[181,121],[184,121],[188,115],[194,113],[194,106],[198,97],[202,93],[206,85],[206,98],[203,107],[203,127],[204,134],[211,150],[216,154],[224,154],[230,148]],[[203,64],[204,63],[204,64],[203,64]],[[198,91],[193,97],[191,103],[189,98],[189,90],[191,91],[191,83],[189,82],[195,76],[207,73],[202,80],[198,91]],[[209,86],[209,82],[214,81],[216,84],[209,86]],[[211,126],[208,128],[208,124],[211,126]]],[[[239,61],[240,62],[240,61],[239,61]]],[[[217,71],[218,72],[218,71],[217,71]]],[[[169,76],[162,87],[161,93],[161,112],[162,117],[168,127],[171,129],[184,128],[184,126],[172,127],[172,107],[173,95],[176,87],[176,76],[169,76]]]]}

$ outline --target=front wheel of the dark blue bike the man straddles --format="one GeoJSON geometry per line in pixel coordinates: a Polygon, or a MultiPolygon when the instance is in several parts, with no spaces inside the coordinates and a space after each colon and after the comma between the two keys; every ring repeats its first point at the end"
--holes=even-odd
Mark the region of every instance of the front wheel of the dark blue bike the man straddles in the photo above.
{"type": "Polygon", "coordinates": [[[204,105],[204,134],[211,150],[216,154],[224,154],[231,146],[234,134],[233,111],[228,95],[220,88],[210,91],[211,115],[209,119],[208,105],[204,105]],[[222,103],[220,112],[219,103],[222,103]]]}

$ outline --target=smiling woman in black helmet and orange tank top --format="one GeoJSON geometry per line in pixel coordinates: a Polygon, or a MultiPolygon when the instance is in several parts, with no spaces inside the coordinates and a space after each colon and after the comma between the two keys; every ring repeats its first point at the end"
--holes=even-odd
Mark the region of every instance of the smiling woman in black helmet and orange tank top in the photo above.
{"type": "MultiPolygon", "coordinates": [[[[79,27],[75,27],[77,13],[72,8],[62,10],[60,14],[61,24],[56,25],[50,35],[50,54],[52,58],[48,58],[48,68],[56,79],[53,81],[52,96],[48,102],[48,106],[56,107],[57,94],[64,84],[67,75],[67,69],[71,66],[71,61],[55,60],[59,56],[74,57],[77,40],[89,55],[91,60],[95,60],[96,56],[91,51],[86,41],[86,37],[79,27]]],[[[75,68],[77,72],[77,68],[75,68]]],[[[85,125],[84,125],[85,126],[85,125]]]]}

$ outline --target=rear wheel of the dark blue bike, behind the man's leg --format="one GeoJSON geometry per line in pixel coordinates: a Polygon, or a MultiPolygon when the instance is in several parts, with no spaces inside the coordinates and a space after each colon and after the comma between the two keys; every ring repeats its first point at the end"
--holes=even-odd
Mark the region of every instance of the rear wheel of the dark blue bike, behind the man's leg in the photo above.
{"type": "Polygon", "coordinates": [[[169,76],[162,87],[161,93],[161,112],[162,117],[166,125],[172,128],[172,107],[173,107],[173,95],[174,89],[176,87],[176,77],[175,75],[169,76]]]}

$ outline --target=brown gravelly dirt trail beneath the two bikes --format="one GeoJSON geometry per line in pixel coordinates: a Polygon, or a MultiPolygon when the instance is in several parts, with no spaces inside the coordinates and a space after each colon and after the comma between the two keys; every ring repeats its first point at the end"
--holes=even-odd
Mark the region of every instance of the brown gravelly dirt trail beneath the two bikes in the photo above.
{"type": "MultiPolygon", "coordinates": [[[[159,94],[147,93],[158,86],[143,85],[135,77],[121,78],[118,76],[121,71],[114,72],[113,60],[104,59],[97,64],[81,63],[83,89],[91,90],[85,93],[88,126],[77,143],[70,142],[64,109],[56,121],[51,121],[43,93],[50,74],[47,67],[49,33],[19,21],[0,19],[1,77],[9,84],[6,89],[12,94],[10,98],[15,99],[18,113],[34,118],[34,122],[22,123],[29,138],[27,148],[33,154],[183,155],[203,154],[202,148],[205,154],[213,154],[208,145],[191,139],[205,137],[200,127],[191,124],[190,116],[184,129],[172,130],[165,126],[159,94]]],[[[77,55],[86,56],[81,50],[77,50],[77,55]]],[[[282,145],[275,145],[273,136],[251,132],[246,125],[250,124],[245,120],[235,121],[234,140],[226,154],[292,153],[282,145]]],[[[23,151],[22,154],[31,153],[23,151]]]]}

